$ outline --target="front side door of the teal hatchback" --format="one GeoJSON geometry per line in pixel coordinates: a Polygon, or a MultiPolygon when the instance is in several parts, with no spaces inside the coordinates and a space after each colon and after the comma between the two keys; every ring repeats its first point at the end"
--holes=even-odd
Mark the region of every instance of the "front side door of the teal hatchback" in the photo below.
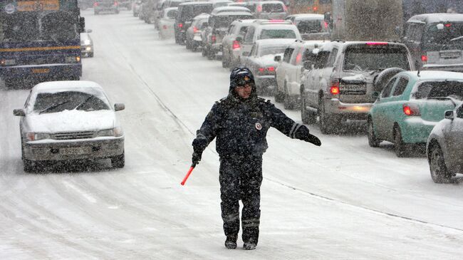
{"type": "Polygon", "coordinates": [[[385,85],[380,93],[378,100],[376,100],[373,108],[370,111],[371,118],[373,120],[373,127],[375,128],[375,135],[382,140],[390,140],[390,135],[387,130],[387,123],[385,115],[387,105],[390,102],[390,95],[392,88],[397,82],[398,77],[391,78],[385,85]]]}

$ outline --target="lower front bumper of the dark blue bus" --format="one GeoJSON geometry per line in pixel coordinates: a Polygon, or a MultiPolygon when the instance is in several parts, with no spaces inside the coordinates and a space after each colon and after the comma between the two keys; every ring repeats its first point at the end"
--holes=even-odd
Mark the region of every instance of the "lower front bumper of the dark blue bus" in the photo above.
{"type": "Polygon", "coordinates": [[[61,78],[82,76],[82,63],[0,67],[0,78],[61,78]]]}

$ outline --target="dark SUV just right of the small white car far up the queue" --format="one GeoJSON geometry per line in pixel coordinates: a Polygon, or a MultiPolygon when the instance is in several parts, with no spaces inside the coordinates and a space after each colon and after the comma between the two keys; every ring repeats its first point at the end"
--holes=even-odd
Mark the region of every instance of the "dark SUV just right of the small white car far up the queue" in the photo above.
{"type": "Polygon", "coordinates": [[[179,4],[177,19],[175,19],[175,43],[184,43],[185,32],[192,24],[194,16],[210,14],[212,3],[206,1],[187,2],[179,4]]]}

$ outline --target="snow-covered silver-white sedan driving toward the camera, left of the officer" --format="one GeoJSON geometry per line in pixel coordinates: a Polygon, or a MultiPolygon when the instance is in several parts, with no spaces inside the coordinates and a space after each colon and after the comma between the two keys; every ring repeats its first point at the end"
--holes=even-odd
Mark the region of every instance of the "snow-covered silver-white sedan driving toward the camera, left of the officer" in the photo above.
{"type": "Polygon", "coordinates": [[[43,162],[110,158],[124,167],[124,133],[115,111],[97,83],[53,81],[39,83],[28,95],[21,116],[21,157],[24,171],[40,170],[43,162]]]}

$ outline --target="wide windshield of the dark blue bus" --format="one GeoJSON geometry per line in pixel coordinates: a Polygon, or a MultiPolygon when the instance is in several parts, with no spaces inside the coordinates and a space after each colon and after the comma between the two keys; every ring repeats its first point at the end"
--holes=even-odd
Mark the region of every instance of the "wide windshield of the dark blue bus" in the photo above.
{"type": "Polygon", "coordinates": [[[70,41],[78,38],[77,16],[66,11],[23,12],[0,17],[0,42],[70,41]]]}

